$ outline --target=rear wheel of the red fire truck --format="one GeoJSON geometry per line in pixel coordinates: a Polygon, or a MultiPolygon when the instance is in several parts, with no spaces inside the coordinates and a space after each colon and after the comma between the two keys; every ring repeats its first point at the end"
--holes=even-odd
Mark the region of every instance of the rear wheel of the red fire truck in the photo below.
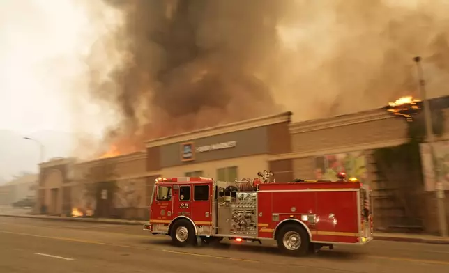
{"type": "Polygon", "coordinates": [[[282,226],[276,241],[280,251],[289,256],[305,256],[309,251],[309,235],[298,224],[282,226]]]}

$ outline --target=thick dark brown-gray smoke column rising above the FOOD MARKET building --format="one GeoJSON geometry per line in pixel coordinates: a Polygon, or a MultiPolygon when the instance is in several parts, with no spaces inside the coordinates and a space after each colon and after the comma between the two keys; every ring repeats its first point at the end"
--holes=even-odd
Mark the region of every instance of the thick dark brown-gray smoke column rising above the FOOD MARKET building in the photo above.
{"type": "Polygon", "coordinates": [[[282,3],[107,2],[126,14],[117,42],[130,53],[112,82],[91,89],[119,105],[123,120],[109,137],[139,143],[280,111],[257,68],[277,49],[282,3]]]}

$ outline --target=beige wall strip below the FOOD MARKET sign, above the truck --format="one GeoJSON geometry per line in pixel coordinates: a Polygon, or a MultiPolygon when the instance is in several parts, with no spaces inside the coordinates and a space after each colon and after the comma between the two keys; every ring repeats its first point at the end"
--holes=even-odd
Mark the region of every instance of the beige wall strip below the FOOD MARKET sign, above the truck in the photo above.
{"type": "Polygon", "coordinates": [[[252,155],[248,157],[238,157],[232,159],[215,160],[212,162],[203,162],[199,164],[184,164],[161,170],[161,175],[167,178],[184,176],[189,171],[203,171],[203,176],[214,178],[217,176],[218,168],[237,166],[238,178],[254,178],[257,172],[268,169],[266,155],[252,155]]]}

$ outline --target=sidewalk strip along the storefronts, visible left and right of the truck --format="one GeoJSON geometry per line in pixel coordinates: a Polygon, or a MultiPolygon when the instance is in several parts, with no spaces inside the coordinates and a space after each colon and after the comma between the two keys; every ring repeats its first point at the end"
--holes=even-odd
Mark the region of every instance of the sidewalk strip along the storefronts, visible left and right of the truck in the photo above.
{"type": "MultiPolygon", "coordinates": [[[[131,221],[123,219],[105,219],[105,218],[77,218],[77,217],[59,217],[31,214],[0,214],[0,217],[18,217],[29,219],[47,219],[54,221],[79,221],[85,223],[102,224],[120,224],[142,226],[146,221],[131,221]]],[[[443,238],[432,235],[406,234],[406,233],[374,233],[374,240],[396,241],[396,242],[418,242],[424,244],[449,244],[449,238],[443,238]]]]}

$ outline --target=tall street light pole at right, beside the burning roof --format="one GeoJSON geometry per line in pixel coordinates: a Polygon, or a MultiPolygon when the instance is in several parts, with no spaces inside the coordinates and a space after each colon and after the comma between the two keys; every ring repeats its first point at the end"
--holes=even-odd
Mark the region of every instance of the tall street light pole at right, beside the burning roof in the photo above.
{"type": "Polygon", "coordinates": [[[438,208],[438,218],[439,218],[439,224],[440,224],[440,234],[442,237],[448,236],[448,226],[446,224],[446,209],[444,204],[444,189],[443,189],[443,183],[441,182],[439,178],[440,170],[439,170],[439,164],[436,163],[436,157],[435,157],[435,137],[434,137],[434,130],[432,128],[432,115],[430,114],[430,104],[429,100],[427,100],[427,93],[425,90],[425,80],[423,77],[423,67],[421,66],[421,57],[417,56],[413,58],[413,61],[416,63],[416,70],[418,72],[418,81],[419,81],[419,88],[420,88],[420,96],[423,100],[423,107],[424,107],[424,117],[425,117],[425,127],[427,132],[427,143],[429,143],[430,146],[430,155],[432,157],[432,166],[434,167],[434,182],[435,182],[435,194],[436,194],[436,206],[438,208]]]}

